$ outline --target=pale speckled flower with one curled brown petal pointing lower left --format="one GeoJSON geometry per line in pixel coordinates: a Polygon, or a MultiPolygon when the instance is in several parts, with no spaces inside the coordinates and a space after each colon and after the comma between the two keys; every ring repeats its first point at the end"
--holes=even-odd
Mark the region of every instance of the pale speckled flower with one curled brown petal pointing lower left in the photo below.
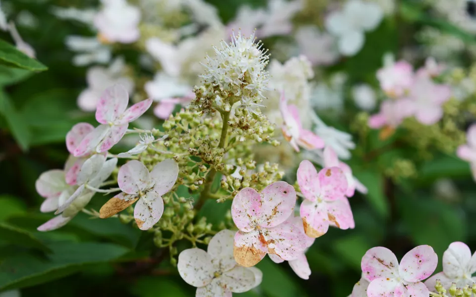
{"type": "Polygon", "coordinates": [[[168,193],[177,181],[179,165],[166,159],[151,172],[144,164],[132,160],[119,169],[118,184],[122,193],[111,198],[99,210],[101,218],[109,218],[139,199],[134,207],[134,218],[141,230],[152,228],[164,213],[162,195],[168,193]]]}

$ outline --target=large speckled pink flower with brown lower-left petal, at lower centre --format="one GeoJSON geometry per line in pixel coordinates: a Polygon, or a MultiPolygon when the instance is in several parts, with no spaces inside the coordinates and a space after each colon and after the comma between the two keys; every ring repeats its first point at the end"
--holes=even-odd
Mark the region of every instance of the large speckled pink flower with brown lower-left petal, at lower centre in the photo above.
{"type": "Polygon", "coordinates": [[[296,204],[296,191],[286,182],[273,183],[261,191],[244,188],[233,199],[232,217],[238,232],[234,254],[239,265],[254,266],[266,253],[293,260],[306,248],[305,235],[289,221],[296,204]]]}

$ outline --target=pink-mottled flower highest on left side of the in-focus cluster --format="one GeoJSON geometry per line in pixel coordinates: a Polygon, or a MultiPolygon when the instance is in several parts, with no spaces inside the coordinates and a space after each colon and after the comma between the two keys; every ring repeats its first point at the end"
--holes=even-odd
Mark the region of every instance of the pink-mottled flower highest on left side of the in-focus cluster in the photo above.
{"type": "Polygon", "coordinates": [[[83,138],[73,155],[79,157],[94,150],[104,152],[112,148],[124,136],[129,123],[150,107],[152,99],[140,101],[126,109],[128,102],[129,95],[121,85],[106,89],[96,110],[96,120],[102,125],[83,138]]]}

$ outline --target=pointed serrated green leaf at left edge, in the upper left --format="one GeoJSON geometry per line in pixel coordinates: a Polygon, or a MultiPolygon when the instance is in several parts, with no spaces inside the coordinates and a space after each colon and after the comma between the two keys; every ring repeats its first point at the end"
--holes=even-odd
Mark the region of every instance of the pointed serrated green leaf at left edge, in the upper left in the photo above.
{"type": "Polygon", "coordinates": [[[10,67],[17,67],[31,71],[45,71],[45,65],[32,59],[9,43],[0,40],[0,61],[10,67]]]}

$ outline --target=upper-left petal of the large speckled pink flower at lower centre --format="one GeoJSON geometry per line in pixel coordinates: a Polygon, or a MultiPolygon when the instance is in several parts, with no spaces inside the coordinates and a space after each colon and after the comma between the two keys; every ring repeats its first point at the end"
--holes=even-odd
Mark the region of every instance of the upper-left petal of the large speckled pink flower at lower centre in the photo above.
{"type": "Polygon", "coordinates": [[[253,222],[262,213],[261,196],[252,188],[240,190],[233,199],[232,218],[235,225],[243,232],[254,230],[253,222]]]}

